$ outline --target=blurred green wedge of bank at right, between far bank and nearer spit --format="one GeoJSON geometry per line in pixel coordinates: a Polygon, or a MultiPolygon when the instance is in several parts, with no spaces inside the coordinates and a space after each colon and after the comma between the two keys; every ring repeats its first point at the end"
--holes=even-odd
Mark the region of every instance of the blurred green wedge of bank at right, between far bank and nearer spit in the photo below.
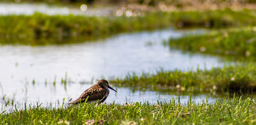
{"type": "Polygon", "coordinates": [[[255,56],[255,27],[215,30],[200,35],[171,38],[169,46],[184,51],[217,55],[255,56]]]}

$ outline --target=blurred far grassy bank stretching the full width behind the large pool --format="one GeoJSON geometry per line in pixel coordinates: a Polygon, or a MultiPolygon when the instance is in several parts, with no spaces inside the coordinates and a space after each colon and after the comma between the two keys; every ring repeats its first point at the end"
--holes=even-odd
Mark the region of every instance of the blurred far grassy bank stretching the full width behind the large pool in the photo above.
{"type": "Polygon", "coordinates": [[[253,26],[256,11],[150,12],[136,17],[87,17],[75,15],[1,15],[1,44],[65,44],[105,38],[122,32],[176,26],[223,28],[253,26]],[[18,21],[17,21],[18,20],[18,21]]]}

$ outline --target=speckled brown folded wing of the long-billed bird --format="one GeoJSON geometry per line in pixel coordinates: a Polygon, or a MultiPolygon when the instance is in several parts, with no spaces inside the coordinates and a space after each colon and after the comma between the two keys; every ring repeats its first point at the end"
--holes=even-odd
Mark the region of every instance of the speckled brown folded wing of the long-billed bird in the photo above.
{"type": "Polygon", "coordinates": [[[70,104],[85,102],[87,97],[87,102],[97,101],[99,99],[102,99],[105,94],[106,92],[102,89],[102,87],[100,87],[99,85],[93,85],[89,89],[85,90],[78,99],[76,99],[74,102],[71,102],[70,104]]]}

